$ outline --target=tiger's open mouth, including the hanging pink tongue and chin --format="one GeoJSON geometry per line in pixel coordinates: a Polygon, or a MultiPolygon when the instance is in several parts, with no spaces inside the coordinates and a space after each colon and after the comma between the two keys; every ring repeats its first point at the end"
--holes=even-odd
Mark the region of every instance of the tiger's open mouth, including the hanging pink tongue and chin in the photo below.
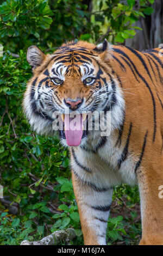
{"type": "Polygon", "coordinates": [[[87,115],[75,114],[74,117],[70,117],[70,114],[61,114],[63,129],[60,130],[60,136],[66,139],[68,146],[78,146],[87,135],[87,115]]]}

